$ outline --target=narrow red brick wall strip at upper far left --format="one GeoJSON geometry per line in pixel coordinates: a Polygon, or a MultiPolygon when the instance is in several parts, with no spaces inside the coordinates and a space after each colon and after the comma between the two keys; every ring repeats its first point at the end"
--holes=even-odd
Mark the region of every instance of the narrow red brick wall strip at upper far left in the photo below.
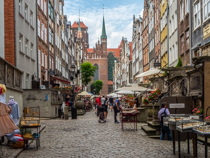
{"type": "Polygon", "coordinates": [[[14,0],[4,1],[4,42],[5,42],[5,60],[13,66],[15,63],[15,17],[14,0]]]}

